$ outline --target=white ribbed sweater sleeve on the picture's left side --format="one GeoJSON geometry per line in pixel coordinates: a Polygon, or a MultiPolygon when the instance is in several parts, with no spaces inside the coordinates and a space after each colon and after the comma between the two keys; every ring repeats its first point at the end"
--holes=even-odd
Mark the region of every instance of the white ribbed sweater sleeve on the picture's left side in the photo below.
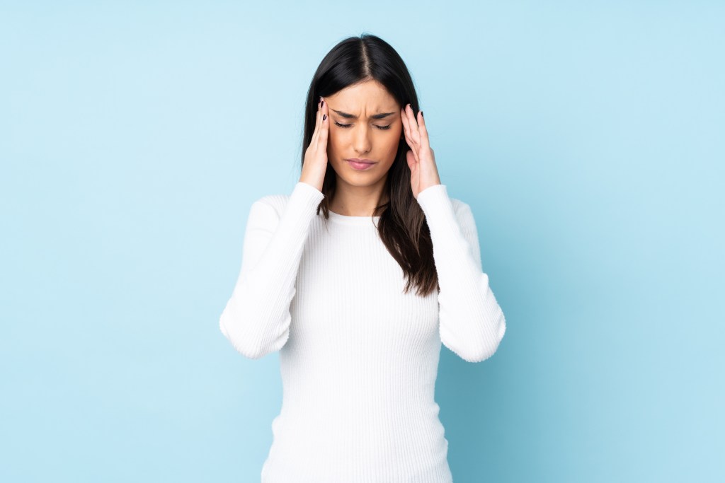
{"type": "Polygon", "coordinates": [[[281,213],[265,198],[252,203],[239,277],[219,319],[223,335],[252,359],[281,349],[289,338],[299,262],[324,195],[297,182],[281,213]]]}

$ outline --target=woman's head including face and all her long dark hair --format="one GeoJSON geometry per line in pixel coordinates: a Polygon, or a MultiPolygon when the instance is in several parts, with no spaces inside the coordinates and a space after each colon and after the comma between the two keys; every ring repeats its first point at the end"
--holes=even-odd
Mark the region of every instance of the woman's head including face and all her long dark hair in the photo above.
{"type": "Polygon", "coordinates": [[[339,185],[346,188],[381,186],[378,232],[388,251],[419,295],[437,287],[433,247],[425,215],[413,197],[400,110],[410,104],[418,114],[418,95],[405,62],[376,35],[363,34],[339,42],[328,52],[312,77],[305,107],[302,165],[315,132],[320,97],[330,116],[328,167],[320,202],[328,217],[329,201],[339,185]],[[370,159],[372,167],[357,170],[349,158],[370,159]]]}

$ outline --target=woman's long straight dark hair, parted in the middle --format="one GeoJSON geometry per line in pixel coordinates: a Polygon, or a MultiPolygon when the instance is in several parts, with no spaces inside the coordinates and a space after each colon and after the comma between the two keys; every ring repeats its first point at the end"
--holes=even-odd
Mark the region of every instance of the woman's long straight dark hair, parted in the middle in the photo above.
{"type": "MultiPolygon", "coordinates": [[[[417,116],[418,95],[410,72],[397,51],[376,35],[363,33],[360,37],[346,38],[322,59],[307,91],[300,167],[305,164],[305,151],[315,132],[320,96],[332,96],[349,85],[367,80],[377,80],[384,85],[400,106],[410,104],[417,116]]],[[[380,216],[380,238],[407,278],[405,293],[415,286],[416,293],[425,296],[433,290],[440,290],[440,287],[433,259],[431,232],[410,186],[410,168],[405,159],[409,149],[405,138],[400,139],[384,188],[389,201],[377,206],[373,216],[380,216]]],[[[328,168],[331,168],[330,164],[328,168]]],[[[334,169],[327,169],[322,188],[325,198],[317,209],[318,214],[320,209],[323,211],[326,220],[329,218],[328,200],[334,197],[335,189],[334,169]]]]}

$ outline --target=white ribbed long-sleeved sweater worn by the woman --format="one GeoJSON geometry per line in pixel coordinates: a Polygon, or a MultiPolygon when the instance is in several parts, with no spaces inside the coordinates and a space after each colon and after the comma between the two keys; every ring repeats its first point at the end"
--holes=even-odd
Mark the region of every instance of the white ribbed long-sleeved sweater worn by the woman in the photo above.
{"type": "Polygon", "coordinates": [[[441,289],[420,297],[403,293],[379,217],[331,212],[326,223],[323,198],[297,182],[252,204],[220,317],[242,355],[280,351],[283,403],[262,482],[451,482],[434,401],[441,343],[479,362],[506,330],[471,208],[445,185],[419,194],[441,289]]]}

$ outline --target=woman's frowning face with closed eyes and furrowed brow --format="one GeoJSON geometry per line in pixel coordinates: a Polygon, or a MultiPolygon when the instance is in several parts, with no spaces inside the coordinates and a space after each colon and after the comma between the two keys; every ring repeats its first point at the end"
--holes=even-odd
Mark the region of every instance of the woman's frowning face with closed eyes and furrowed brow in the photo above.
{"type": "Polygon", "coordinates": [[[384,182],[401,138],[400,106],[381,83],[370,80],[326,96],[330,115],[327,156],[337,182],[372,186],[384,182]],[[372,161],[360,165],[347,159],[372,161]]]}

